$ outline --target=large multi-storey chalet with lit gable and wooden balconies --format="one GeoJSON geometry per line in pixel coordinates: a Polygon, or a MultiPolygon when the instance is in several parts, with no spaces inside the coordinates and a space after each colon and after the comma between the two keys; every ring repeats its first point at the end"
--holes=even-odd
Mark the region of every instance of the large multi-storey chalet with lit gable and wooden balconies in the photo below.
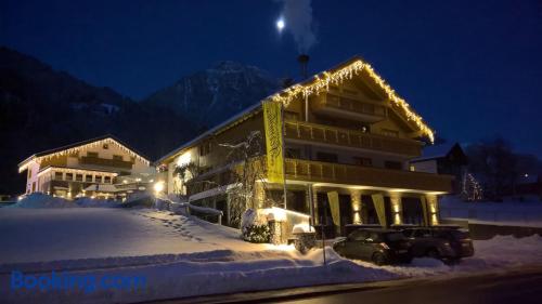
{"type": "MultiPolygon", "coordinates": [[[[363,61],[348,61],[264,101],[284,104],[288,210],[319,224],[332,214],[328,194],[337,193],[335,228],[343,234],[352,224],[438,224],[438,196],[451,190],[452,177],[409,170],[421,156],[421,138],[433,140],[434,133],[363,61]]],[[[253,131],[264,136],[260,103],[160,158],[167,193],[222,210],[228,224],[229,193],[236,185],[230,150],[221,144],[240,143],[253,131]],[[197,176],[181,179],[176,168],[188,163],[197,176]],[[202,181],[207,183],[195,183],[202,181]]],[[[282,185],[257,183],[254,196],[259,208],[268,199],[281,202],[282,185]]]]}

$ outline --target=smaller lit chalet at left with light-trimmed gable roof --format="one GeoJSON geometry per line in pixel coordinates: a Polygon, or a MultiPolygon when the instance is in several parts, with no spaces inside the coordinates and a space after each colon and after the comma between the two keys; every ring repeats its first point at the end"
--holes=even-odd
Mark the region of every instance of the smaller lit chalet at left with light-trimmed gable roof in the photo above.
{"type": "Polygon", "coordinates": [[[27,171],[26,194],[64,198],[121,198],[145,190],[155,174],[147,158],[112,135],[35,154],[18,164],[27,171]]]}

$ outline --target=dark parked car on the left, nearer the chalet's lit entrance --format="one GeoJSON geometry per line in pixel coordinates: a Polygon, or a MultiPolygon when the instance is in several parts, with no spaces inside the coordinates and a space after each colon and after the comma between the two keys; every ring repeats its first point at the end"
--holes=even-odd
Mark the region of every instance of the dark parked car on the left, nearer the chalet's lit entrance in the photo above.
{"type": "Polygon", "coordinates": [[[343,256],[371,261],[376,265],[410,263],[410,247],[400,232],[373,228],[352,232],[333,244],[333,249],[343,256]]]}

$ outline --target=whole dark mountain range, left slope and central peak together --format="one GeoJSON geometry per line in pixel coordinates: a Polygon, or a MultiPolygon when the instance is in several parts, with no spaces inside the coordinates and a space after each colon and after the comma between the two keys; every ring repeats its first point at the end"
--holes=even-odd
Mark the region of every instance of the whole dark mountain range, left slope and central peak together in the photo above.
{"type": "Polygon", "coordinates": [[[31,154],[111,133],[155,160],[278,89],[221,62],[136,102],[0,47],[0,194],[24,191],[17,163],[31,154]]]}

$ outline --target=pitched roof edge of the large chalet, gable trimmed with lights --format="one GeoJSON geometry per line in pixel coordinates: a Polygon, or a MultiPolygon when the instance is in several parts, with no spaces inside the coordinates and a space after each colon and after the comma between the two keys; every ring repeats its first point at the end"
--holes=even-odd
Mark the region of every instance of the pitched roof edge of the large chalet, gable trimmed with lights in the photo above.
{"type": "MultiPolygon", "coordinates": [[[[414,110],[410,108],[410,105],[401,97],[399,97],[395,90],[386,83],[386,81],[378,76],[372,66],[365,63],[361,57],[353,56],[352,58],[332,67],[327,70],[324,70],[320,74],[314,75],[312,78],[309,78],[299,83],[293,84],[286,89],[283,89],[266,98],[264,101],[275,101],[284,103],[288,105],[294,98],[299,96],[309,96],[312,94],[321,93],[327,90],[331,84],[338,84],[347,79],[351,79],[353,75],[358,75],[360,72],[366,72],[367,76],[378,85],[379,89],[383,90],[384,95],[391,102],[391,105],[396,107],[398,113],[402,115],[406,121],[412,122],[421,132],[429,137],[429,140],[434,141],[434,131],[423,121],[422,117],[417,115],[414,110]]],[[[192,141],[181,145],[180,147],[173,149],[168,153],[164,157],[159,158],[155,163],[160,163],[169,159],[170,157],[176,156],[178,153],[183,149],[194,145],[198,141],[228,128],[234,122],[241,120],[251,113],[256,113],[261,109],[261,103],[256,103],[253,106],[244,109],[237,115],[231,117],[230,119],[217,124],[216,127],[209,129],[208,131],[202,133],[192,141]]]]}

